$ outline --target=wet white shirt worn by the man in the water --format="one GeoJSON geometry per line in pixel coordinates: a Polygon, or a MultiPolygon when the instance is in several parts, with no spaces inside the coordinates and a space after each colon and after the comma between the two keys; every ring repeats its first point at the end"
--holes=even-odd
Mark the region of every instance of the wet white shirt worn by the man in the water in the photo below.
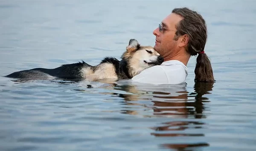
{"type": "Polygon", "coordinates": [[[131,81],[148,84],[180,84],[186,81],[187,67],[178,60],[163,62],[134,76],[131,81]]]}

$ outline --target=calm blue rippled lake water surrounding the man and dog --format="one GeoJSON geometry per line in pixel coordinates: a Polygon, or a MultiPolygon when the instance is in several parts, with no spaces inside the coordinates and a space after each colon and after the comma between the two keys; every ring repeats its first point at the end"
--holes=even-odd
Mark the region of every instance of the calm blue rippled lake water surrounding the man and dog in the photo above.
{"type": "Polygon", "coordinates": [[[1,0],[1,151],[255,151],[256,1],[1,0]],[[216,82],[154,86],[3,76],[120,58],[175,7],[199,11],[216,82]],[[87,88],[91,84],[93,88],[87,88]]]}

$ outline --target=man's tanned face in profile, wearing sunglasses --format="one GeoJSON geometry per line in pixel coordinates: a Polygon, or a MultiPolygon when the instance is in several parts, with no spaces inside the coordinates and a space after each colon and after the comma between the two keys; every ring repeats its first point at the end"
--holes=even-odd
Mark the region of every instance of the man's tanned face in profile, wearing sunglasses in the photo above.
{"type": "Polygon", "coordinates": [[[168,59],[175,51],[178,51],[177,41],[174,40],[176,26],[183,18],[177,14],[169,14],[163,21],[163,31],[159,31],[159,27],[153,31],[156,36],[154,49],[164,58],[168,59]]]}

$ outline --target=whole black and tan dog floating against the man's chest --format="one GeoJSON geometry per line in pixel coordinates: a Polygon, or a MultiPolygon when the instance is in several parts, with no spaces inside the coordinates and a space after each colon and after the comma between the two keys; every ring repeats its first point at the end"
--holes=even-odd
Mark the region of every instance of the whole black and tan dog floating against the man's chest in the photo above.
{"type": "Polygon", "coordinates": [[[70,80],[98,81],[102,79],[132,78],[141,71],[160,65],[163,58],[151,46],[140,46],[136,39],[130,39],[121,61],[106,57],[96,66],[84,61],[74,64],[64,64],[55,69],[35,68],[11,73],[6,77],[20,79],[49,79],[62,78],[70,80]]]}

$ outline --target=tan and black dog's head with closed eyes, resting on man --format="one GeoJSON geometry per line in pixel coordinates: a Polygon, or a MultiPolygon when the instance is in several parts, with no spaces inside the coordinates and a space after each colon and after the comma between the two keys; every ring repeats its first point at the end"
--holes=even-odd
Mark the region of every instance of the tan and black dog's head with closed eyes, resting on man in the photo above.
{"type": "Polygon", "coordinates": [[[136,39],[130,39],[122,59],[127,61],[132,77],[149,67],[163,63],[163,57],[153,47],[141,46],[136,39]]]}

